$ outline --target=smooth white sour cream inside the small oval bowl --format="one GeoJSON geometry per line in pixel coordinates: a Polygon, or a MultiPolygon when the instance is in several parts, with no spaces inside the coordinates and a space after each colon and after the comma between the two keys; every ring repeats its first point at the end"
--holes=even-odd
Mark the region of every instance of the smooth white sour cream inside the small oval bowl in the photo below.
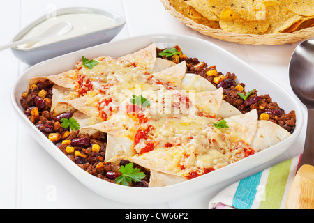
{"type": "Polygon", "coordinates": [[[29,32],[27,32],[21,38],[21,40],[40,36],[40,34],[59,22],[70,22],[73,28],[68,33],[65,33],[61,36],[46,40],[40,40],[37,43],[27,43],[18,46],[18,48],[29,49],[42,47],[43,45],[57,43],[62,40],[83,36],[103,29],[110,29],[114,26],[117,26],[118,24],[116,21],[112,20],[112,18],[105,15],[100,15],[96,13],[70,13],[65,15],[58,15],[56,17],[50,17],[49,19],[40,22],[38,25],[34,26],[29,32]]]}

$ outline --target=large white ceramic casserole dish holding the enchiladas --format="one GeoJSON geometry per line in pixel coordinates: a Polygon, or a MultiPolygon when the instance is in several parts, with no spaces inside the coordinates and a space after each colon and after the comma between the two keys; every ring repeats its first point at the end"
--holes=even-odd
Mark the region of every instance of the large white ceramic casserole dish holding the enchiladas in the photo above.
{"type": "Polygon", "coordinates": [[[234,176],[244,174],[244,172],[265,164],[287,151],[297,139],[304,123],[301,103],[294,95],[290,95],[281,88],[281,86],[278,86],[278,84],[274,83],[271,79],[262,75],[262,73],[251,66],[248,66],[248,64],[241,61],[241,59],[225,51],[225,49],[206,40],[190,36],[167,34],[137,36],[82,49],[77,52],[43,61],[26,70],[20,78],[17,79],[17,82],[13,86],[11,97],[17,116],[27,125],[33,138],[45,148],[47,153],[50,153],[57,162],[69,171],[70,174],[73,174],[82,184],[103,197],[114,201],[133,204],[156,204],[173,201],[200,190],[207,190],[207,188],[222,183],[224,180],[229,180],[234,176]],[[104,55],[119,57],[136,52],[153,42],[161,49],[179,45],[184,54],[189,57],[197,57],[197,59],[205,61],[209,65],[216,65],[217,70],[224,74],[226,72],[234,72],[237,75],[237,81],[244,82],[247,89],[255,88],[259,91],[260,95],[269,93],[274,102],[278,102],[278,105],[285,111],[294,110],[296,112],[297,123],[293,134],[284,141],[281,141],[281,143],[246,157],[244,160],[234,162],[226,167],[187,180],[183,183],[166,187],[138,188],[109,183],[88,174],[57,149],[57,147],[29,121],[27,116],[24,115],[23,109],[20,106],[20,96],[26,91],[27,84],[31,77],[54,75],[73,69],[73,66],[77,61],[80,61],[82,55],[87,58],[96,58],[104,55]]]}

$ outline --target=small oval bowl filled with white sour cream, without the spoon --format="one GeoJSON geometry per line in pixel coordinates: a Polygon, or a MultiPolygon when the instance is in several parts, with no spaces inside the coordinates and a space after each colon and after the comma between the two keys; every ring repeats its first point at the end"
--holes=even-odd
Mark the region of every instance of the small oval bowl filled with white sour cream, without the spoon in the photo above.
{"type": "Polygon", "coordinates": [[[39,36],[59,22],[70,22],[72,29],[62,36],[12,47],[20,61],[34,65],[56,56],[110,42],[123,29],[124,17],[96,8],[61,8],[44,15],[17,33],[14,41],[39,36]]]}

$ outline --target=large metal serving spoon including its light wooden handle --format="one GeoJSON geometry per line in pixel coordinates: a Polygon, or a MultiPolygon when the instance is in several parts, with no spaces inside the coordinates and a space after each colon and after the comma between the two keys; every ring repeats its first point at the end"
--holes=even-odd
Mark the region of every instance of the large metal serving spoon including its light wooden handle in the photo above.
{"type": "Polygon", "coordinates": [[[314,208],[314,40],[300,43],[290,59],[292,90],[308,109],[308,126],[299,170],[287,194],[285,208],[314,208]]]}

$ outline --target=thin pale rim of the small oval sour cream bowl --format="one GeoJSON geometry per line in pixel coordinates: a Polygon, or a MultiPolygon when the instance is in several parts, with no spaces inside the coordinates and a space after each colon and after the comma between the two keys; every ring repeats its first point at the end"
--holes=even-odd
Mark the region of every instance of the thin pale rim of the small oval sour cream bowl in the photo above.
{"type": "MultiPolygon", "coordinates": [[[[89,8],[89,7],[68,7],[68,8],[59,8],[55,11],[55,15],[66,15],[66,14],[73,14],[73,13],[96,13],[99,15],[105,15],[107,17],[110,17],[112,20],[116,21],[117,24],[114,26],[110,26],[107,27],[105,29],[101,29],[100,31],[95,31],[95,32],[91,32],[91,33],[86,33],[82,36],[75,36],[73,38],[66,38],[64,40],[61,40],[59,42],[54,42],[54,43],[50,43],[47,45],[43,45],[43,46],[39,46],[39,47],[31,47],[31,48],[18,48],[18,47],[13,47],[13,49],[19,50],[19,51],[31,51],[31,50],[35,50],[35,49],[40,49],[42,47],[47,47],[48,45],[54,45],[56,43],[61,43],[63,41],[67,41],[67,40],[72,40],[75,38],[82,38],[84,36],[90,36],[93,35],[95,33],[100,33],[103,31],[107,31],[107,30],[111,30],[111,29],[115,29],[119,26],[123,26],[126,23],[126,20],[124,19],[124,17],[122,17],[121,15],[114,13],[110,10],[102,10],[102,9],[98,9],[98,8],[89,8]]],[[[29,32],[34,26],[40,24],[41,22],[47,20],[47,15],[43,15],[41,17],[39,17],[37,20],[31,22],[31,24],[27,25],[24,27],[24,29],[22,29],[19,33],[17,33],[15,35],[15,37],[13,38],[12,42],[20,40],[27,32],[29,32]]]]}

